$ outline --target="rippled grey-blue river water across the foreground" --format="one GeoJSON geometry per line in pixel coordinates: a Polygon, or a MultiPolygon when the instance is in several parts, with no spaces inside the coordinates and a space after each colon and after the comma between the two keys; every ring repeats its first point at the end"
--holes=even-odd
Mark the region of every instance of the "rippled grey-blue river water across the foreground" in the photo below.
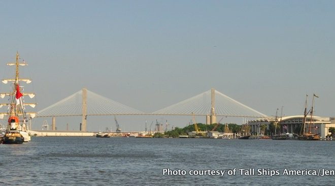
{"type": "Polygon", "coordinates": [[[0,144],[0,185],[335,185],[334,157],[335,141],[32,137],[0,144]]]}

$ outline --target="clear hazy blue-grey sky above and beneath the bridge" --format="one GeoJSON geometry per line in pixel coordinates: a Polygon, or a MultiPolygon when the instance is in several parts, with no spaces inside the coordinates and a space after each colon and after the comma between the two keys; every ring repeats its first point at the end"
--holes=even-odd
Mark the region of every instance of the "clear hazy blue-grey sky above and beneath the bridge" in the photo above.
{"type": "MultiPolygon", "coordinates": [[[[5,64],[19,51],[37,111],[83,87],[144,112],[215,88],[266,115],[282,107],[283,115],[303,114],[306,94],[309,106],[316,94],[315,114],[335,116],[334,8],[334,1],[0,1],[1,78],[14,74],[5,64]]],[[[118,117],[129,131],[155,119],[184,127],[191,117],[118,117]]],[[[236,118],[222,122],[229,119],[236,118]]],[[[81,122],[56,120],[58,130],[81,122]]],[[[33,122],[41,129],[43,120],[33,122]]],[[[109,126],[115,130],[114,116],[88,118],[89,131],[109,126]]]]}

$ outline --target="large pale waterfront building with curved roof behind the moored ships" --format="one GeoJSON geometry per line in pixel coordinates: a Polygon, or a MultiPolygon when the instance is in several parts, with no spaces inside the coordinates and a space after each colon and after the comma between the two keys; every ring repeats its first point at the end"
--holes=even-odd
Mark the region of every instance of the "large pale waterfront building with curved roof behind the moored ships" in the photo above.
{"type": "MultiPolygon", "coordinates": [[[[266,125],[266,129],[270,129],[270,125],[275,125],[277,118],[277,126],[280,126],[277,133],[295,133],[299,134],[301,126],[303,126],[304,115],[284,116],[284,117],[264,117],[255,120],[249,120],[248,125],[251,127],[251,133],[257,135],[260,134],[260,126],[266,125]]],[[[314,134],[320,134],[321,138],[325,138],[328,135],[329,128],[335,128],[335,117],[319,117],[313,116],[306,117],[305,132],[311,131],[314,134]]],[[[273,135],[273,134],[269,134],[273,135]]]]}

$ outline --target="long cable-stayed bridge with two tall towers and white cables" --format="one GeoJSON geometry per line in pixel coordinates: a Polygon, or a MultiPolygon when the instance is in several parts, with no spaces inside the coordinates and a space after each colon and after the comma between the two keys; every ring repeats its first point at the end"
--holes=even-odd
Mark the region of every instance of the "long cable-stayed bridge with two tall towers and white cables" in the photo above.
{"type": "Polygon", "coordinates": [[[94,115],[203,115],[207,116],[206,122],[208,124],[215,123],[216,116],[266,117],[265,114],[213,88],[151,113],[131,108],[83,88],[42,109],[38,112],[37,117],[82,116],[82,131],[86,131],[86,117],[94,115]]]}

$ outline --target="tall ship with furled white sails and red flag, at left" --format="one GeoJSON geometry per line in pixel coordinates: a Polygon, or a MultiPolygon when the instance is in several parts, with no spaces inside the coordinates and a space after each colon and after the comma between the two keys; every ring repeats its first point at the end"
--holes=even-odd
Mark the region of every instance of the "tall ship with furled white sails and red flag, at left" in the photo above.
{"type": "Polygon", "coordinates": [[[37,104],[25,102],[26,97],[31,99],[35,97],[35,94],[24,92],[24,86],[21,85],[22,82],[26,84],[31,82],[31,79],[23,79],[19,76],[19,67],[27,66],[28,64],[24,60],[20,62],[20,55],[17,52],[16,61],[7,63],[7,65],[14,66],[16,70],[14,78],[2,80],[4,84],[10,85],[10,90],[9,92],[0,93],[1,98],[8,100],[8,103],[0,103],[0,108],[8,107],[7,112],[0,113],[0,119],[7,119],[7,127],[1,137],[1,142],[4,144],[21,144],[30,141],[29,127],[31,126],[31,119],[36,115],[36,112],[27,112],[25,107],[30,106],[33,108],[37,104]]]}

